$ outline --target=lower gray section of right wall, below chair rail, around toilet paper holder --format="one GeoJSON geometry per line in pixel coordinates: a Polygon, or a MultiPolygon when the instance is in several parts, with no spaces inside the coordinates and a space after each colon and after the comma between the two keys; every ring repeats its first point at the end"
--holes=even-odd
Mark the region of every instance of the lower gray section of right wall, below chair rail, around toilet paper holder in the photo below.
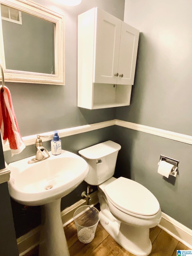
{"type": "Polygon", "coordinates": [[[133,179],[148,188],[158,199],[162,212],[192,229],[192,146],[140,131],[116,127],[119,151],[115,176],[133,179]],[[160,155],[179,160],[177,177],[160,175],[160,155]]]}

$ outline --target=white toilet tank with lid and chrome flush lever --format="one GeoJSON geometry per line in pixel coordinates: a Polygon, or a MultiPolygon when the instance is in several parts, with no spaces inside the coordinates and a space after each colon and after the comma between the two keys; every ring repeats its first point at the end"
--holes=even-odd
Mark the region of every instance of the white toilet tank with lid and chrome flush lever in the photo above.
{"type": "Polygon", "coordinates": [[[99,185],[111,178],[115,172],[116,160],[121,146],[111,140],[79,150],[79,154],[89,165],[85,181],[99,185]]]}

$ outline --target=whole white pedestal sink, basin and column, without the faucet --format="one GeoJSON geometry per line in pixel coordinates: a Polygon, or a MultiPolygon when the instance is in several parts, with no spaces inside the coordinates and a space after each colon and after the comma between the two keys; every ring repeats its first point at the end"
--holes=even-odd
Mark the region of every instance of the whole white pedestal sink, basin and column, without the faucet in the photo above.
{"type": "Polygon", "coordinates": [[[87,176],[88,164],[80,156],[62,150],[61,155],[33,164],[25,158],[8,165],[10,196],[24,205],[41,205],[40,256],[68,256],[61,221],[61,197],[69,194],[87,176]]]}

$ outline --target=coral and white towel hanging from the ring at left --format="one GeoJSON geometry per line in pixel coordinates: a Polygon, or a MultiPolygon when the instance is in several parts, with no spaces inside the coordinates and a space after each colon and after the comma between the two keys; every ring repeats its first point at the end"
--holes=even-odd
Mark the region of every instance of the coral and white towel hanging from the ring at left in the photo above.
{"type": "Polygon", "coordinates": [[[4,144],[7,139],[9,140],[9,146],[12,156],[19,154],[25,148],[19,133],[13,105],[11,101],[11,95],[9,89],[4,86],[4,91],[0,86],[0,129],[3,137],[4,144]]]}

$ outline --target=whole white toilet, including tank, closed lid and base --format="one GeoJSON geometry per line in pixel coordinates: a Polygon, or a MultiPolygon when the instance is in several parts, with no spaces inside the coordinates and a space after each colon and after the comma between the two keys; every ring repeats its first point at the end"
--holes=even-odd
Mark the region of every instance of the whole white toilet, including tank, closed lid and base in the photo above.
{"type": "Polygon", "coordinates": [[[156,197],[131,179],[113,177],[121,146],[111,140],[82,149],[79,154],[89,165],[85,181],[98,185],[100,223],[125,250],[138,256],[152,250],[149,228],[161,220],[156,197]]]}

